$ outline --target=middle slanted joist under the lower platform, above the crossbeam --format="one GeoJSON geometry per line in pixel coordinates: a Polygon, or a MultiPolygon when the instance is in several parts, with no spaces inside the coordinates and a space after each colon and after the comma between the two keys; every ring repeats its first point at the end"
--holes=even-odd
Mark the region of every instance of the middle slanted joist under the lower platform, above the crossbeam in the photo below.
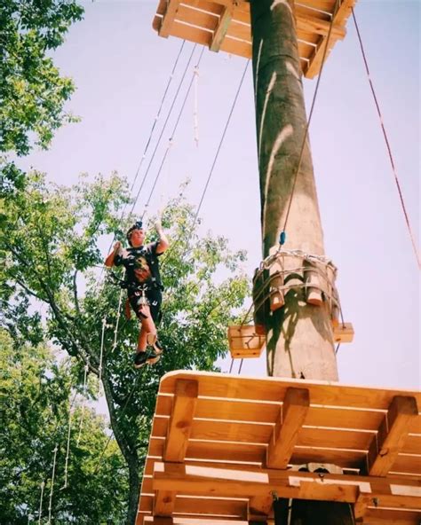
{"type": "Polygon", "coordinates": [[[306,388],[288,388],[266,452],[268,468],[286,468],[310,407],[306,388]]]}

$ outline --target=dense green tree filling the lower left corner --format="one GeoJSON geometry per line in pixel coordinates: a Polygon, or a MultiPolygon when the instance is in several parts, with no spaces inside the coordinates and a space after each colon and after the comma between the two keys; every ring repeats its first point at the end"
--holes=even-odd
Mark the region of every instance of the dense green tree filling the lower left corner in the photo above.
{"type": "Polygon", "coordinates": [[[108,438],[104,420],[91,409],[83,410],[75,397],[72,383],[77,384],[80,366],[69,359],[58,364],[43,343],[16,344],[4,329],[0,329],[0,346],[0,522],[26,525],[29,516],[38,521],[40,507],[42,517],[48,515],[56,446],[54,522],[123,521],[127,490],[123,458],[115,442],[111,443],[102,475],[94,475],[108,438]],[[41,483],[45,484],[43,501],[41,483]]]}

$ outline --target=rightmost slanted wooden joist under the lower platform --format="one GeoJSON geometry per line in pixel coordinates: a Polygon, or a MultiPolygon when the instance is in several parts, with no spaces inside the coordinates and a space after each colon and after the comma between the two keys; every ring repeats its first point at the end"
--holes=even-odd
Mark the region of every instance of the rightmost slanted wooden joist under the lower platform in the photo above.
{"type": "Polygon", "coordinates": [[[367,469],[370,475],[385,476],[391,470],[409,434],[409,424],[417,418],[417,400],[394,396],[393,401],[369,445],[367,469]]]}

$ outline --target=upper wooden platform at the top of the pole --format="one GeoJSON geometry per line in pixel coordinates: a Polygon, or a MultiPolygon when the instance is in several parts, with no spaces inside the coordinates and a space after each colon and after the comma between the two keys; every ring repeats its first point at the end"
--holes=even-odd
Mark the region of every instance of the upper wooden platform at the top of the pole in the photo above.
{"type": "MultiPolygon", "coordinates": [[[[329,49],[346,35],[356,0],[342,0],[333,21],[329,49]]],[[[319,73],[336,0],[296,0],[298,52],[307,78],[319,73]]],[[[250,4],[244,0],[160,0],[153,27],[159,35],[201,43],[250,59],[250,4]]]]}

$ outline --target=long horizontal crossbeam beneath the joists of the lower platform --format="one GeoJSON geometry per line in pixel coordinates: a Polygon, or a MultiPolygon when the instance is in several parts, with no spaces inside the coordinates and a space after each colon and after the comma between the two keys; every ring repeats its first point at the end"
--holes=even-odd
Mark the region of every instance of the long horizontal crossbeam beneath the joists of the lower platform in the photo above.
{"type": "MultiPolygon", "coordinates": [[[[242,471],[193,465],[155,463],[154,490],[177,487],[180,494],[224,498],[267,497],[340,501],[355,504],[361,493],[369,504],[419,509],[421,481],[393,477],[317,474],[287,470],[242,471]]],[[[359,499],[360,498],[360,499],[359,499]]]]}

